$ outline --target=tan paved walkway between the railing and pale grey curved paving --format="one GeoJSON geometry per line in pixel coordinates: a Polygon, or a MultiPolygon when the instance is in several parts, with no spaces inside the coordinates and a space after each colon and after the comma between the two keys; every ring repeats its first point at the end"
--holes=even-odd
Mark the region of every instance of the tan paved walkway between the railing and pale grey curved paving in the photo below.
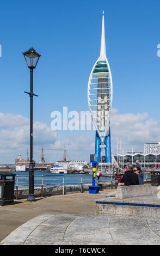
{"type": "Polygon", "coordinates": [[[0,242],[13,230],[41,214],[90,214],[95,212],[95,199],[104,198],[110,190],[99,194],[70,193],[58,196],[36,198],[35,202],[26,199],[15,200],[14,205],[0,206],[0,242]]]}

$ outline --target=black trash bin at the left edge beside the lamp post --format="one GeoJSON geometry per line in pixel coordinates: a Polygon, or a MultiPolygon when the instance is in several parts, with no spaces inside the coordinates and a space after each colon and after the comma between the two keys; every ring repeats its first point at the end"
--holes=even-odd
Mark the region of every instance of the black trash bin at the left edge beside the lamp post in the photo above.
{"type": "Polygon", "coordinates": [[[0,205],[14,203],[15,175],[9,172],[0,172],[0,205]]]}

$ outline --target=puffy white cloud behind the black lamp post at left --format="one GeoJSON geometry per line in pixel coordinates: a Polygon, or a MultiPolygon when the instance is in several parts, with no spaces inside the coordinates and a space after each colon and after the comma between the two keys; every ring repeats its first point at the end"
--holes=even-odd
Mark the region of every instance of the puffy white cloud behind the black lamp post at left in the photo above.
{"type": "MultiPolygon", "coordinates": [[[[26,158],[29,149],[29,119],[22,115],[0,113],[0,163],[14,163],[18,153],[26,158]],[[25,154],[25,155],[23,155],[25,154]]],[[[56,141],[57,133],[44,123],[33,122],[35,158],[40,157],[41,145],[56,141]]]]}

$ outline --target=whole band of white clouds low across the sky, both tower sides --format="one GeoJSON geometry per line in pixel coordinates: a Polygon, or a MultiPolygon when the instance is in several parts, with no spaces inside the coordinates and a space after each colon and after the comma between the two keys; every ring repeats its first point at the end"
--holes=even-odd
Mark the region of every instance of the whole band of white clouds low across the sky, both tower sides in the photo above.
{"type": "MultiPolygon", "coordinates": [[[[148,113],[121,114],[118,109],[113,108],[110,125],[114,154],[117,138],[119,142],[121,138],[122,149],[133,147],[136,151],[143,151],[145,141],[160,141],[160,119],[155,121],[148,113]]],[[[77,136],[73,133],[70,137],[71,131],[64,132],[66,137],[57,139],[56,131],[44,123],[34,121],[34,159],[39,161],[42,144],[47,162],[63,159],[65,144],[69,155],[67,159],[89,161],[89,154],[93,154],[95,150],[95,131],[77,131],[77,136]]],[[[61,137],[61,131],[58,131],[58,135],[61,137]]],[[[29,119],[22,115],[0,113],[0,163],[14,163],[18,153],[26,158],[27,149],[29,150],[29,119]]]]}

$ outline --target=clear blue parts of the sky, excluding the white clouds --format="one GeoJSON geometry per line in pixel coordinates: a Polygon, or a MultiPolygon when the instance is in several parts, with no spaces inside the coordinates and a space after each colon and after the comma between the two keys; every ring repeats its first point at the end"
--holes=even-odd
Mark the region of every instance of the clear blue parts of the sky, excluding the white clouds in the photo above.
{"type": "MultiPolygon", "coordinates": [[[[23,93],[29,90],[29,70],[22,52],[30,46],[41,54],[34,70],[34,93],[39,95],[34,97],[34,120],[50,127],[54,110],[62,111],[63,106],[69,111],[88,110],[88,78],[100,55],[104,10],[107,58],[113,77],[113,108],[124,115],[147,112],[147,121],[151,118],[158,122],[159,7],[159,1],[144,0],[3,1],[0,112],[29,118],[29,97],[23,93]]],[[[74,136],[94,140],[94,132],[57,132],[58,140],[74,136]]],[[[155,139],[160,141],[158,136],[157,133],[155,139]]],[[[146,136],[146,139],[152,138],[146,136]]],[[[143,148],[143,142],[140,143],[136,145],[143,148]]],[[[0,162],[5,157],[13,162],[22,148],[20,144],[16,146],[11,156],[0,151],[0,162]]],[[[81,149],[77,152],[80,156],[81,149]]]]}

